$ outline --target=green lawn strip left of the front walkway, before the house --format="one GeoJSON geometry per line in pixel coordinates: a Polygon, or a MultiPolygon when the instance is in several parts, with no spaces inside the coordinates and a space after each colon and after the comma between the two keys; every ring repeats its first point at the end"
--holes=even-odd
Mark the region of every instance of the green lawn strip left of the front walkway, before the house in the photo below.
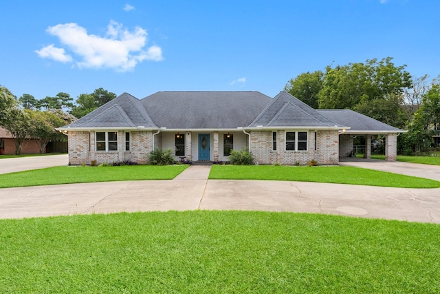
{"type": "Polygon", "coordinates": [[[188,165],[124,165],[120,167],[49,167],[0,174],[0,188],[109,182],[117,180],[170,180],[188,165]]]}

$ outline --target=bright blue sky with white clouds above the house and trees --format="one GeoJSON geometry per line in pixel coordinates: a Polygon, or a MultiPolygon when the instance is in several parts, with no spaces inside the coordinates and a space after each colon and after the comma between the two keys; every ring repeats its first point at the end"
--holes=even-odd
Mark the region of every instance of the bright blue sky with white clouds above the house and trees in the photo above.
{"type": "Polygon", "coordinates": [[[387,56],[412,76],[440,74],[437,0],[0,0],[0,11],[0,85],[17,97],[273,97],[303,72],[387,56]]]}

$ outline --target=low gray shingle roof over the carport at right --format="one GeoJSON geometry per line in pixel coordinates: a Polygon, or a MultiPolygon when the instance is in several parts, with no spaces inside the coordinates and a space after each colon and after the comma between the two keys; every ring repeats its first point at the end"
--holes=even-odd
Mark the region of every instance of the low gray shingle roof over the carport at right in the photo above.
{"type": "Polygon", "coordinates": [[[347,132],[406,132],[369,116],[364,116],[364,114],[360,114],[351,109],[318,109],[318,112],[336,121],[340,125],[350,126],[347,132]]]}

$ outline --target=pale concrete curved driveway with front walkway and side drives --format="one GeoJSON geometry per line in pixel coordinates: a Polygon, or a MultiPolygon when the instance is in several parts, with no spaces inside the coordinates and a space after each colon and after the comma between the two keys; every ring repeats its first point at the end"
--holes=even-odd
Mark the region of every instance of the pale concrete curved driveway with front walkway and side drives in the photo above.
{"type": "MultiPolygon", "coordinates": [[[[44,156],[42,160],[43,158],[51,160],[52,156],[44,156]]],[[[5,159],[0,159],[0,169],[3,168],[3,160],[5,159]]],[[[371,169],[394,168],[401,174],[416,172],[418,176],[439,176],[440,179],[438,166],[419,167],[407,162],[375,160],[365,162],[371,169]],[[404,169],[402,163],[405,164],[404,169]]],[[[67,156],[64,164],[67,165],[67,156]]],[[[341,165],[362,166],[362,160],[341,162],[341,165]]],[[[440,223],[440,189],[384,188],[316,182],[208,180],[209,171],[209,166],[192,165],[174,180],[0,189],[0,218],[120,211],[241,209],[440,223]]]]}

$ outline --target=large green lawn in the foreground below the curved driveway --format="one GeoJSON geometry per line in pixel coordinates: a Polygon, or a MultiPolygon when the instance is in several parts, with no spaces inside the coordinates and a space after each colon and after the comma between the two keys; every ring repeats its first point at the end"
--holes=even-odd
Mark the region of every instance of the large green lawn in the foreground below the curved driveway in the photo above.
{"type": "Polygon", "coordinates": [[[439,293],[440,225],[185,211],[0,220],[2,293],[439,293]]]}

